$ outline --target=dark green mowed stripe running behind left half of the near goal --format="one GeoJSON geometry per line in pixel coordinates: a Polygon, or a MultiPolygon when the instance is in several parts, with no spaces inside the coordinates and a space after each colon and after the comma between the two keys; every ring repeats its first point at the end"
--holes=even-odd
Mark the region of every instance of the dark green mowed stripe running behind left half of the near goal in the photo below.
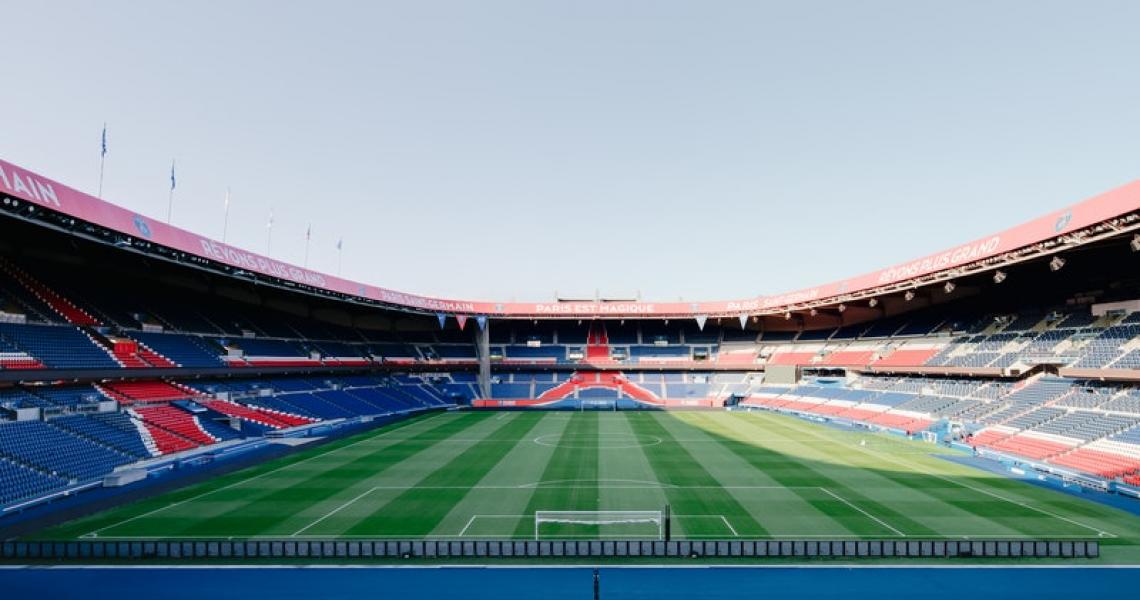
{"type": "MultiPolygon", "coordinates": [[[[557,483],[557,487],[537,486],[522,514],[534,516],[540,510],[597,510],[597,430],[598,413],[573,413],[570,423],[557,438],[557,447],[546,463],[543,480],[557,483]],[[573,485],[571,489],[565,484],[573,485]]],[[[552,526],[556,535],[561,528],[552,526]]],[[[564,530],[564,529],[562,529],[564,530]]],[[[600,533],[597,527],[575,526],[575,535],[600,533]]],[[[522,519],[514,529],[516,537],[534,537],[535,520],[522,519]]]]}

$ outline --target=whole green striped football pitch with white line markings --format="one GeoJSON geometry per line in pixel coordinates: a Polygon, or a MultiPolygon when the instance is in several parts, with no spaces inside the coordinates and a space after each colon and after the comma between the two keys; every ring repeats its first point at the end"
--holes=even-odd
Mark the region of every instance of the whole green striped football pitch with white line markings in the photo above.
{"type": "Polygon", "coordinates": [[[935,456],[951,452],[769,413],[438,413],[33,537],[656,538],[668,505],[674,538],[1099,538],[1140,557],[1140,518],[935,456]]]}

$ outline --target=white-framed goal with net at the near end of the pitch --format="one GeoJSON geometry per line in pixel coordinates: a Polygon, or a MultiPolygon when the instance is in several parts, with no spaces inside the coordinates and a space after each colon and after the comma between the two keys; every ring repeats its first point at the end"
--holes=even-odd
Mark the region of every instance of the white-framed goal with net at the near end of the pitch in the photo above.
{"type": "Polygon", "coordinates": [[[535,512],[535,540],[665,540],[659,510],[540,510],[535,512]]]}

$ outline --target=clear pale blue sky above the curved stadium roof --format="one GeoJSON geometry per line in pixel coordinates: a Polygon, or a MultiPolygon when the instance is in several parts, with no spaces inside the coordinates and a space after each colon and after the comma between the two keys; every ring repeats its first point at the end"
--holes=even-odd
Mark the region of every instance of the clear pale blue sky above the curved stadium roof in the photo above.
{"type": "Polygon", "coordinates": [[[0,2],[0,156],[453,298],[779,293],[1140,178],[1135,1],[0,2]]]}

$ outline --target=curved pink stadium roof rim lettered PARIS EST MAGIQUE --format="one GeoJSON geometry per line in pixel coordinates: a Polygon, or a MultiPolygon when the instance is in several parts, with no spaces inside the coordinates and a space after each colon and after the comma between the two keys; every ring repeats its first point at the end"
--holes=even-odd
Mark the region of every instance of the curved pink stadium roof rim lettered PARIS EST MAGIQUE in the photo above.
{"type": "MultiPolygon", "coordinates": [[[[268,277],[397,309],[496,318],[700,318],[773,315],[898,293],[997,269],[1140,228],[1140,181],[915,260],[789,293],[700,302],[497,302],[431,298],[343,279],[157,221],[0,160],[0,192],[55,213],[164,246],[233,274],[268,277]]],[[[18,206],[6,202],[6,209],[18,206]]],[[[918,226],[934,226],[919,224],[918,226]]]]}

